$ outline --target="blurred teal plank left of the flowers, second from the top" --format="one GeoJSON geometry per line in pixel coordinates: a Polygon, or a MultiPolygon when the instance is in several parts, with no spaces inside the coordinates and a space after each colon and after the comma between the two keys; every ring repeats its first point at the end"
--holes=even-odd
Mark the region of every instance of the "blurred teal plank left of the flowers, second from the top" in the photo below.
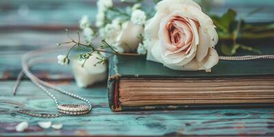
{"type": "MultiPolygon", "coordinates": [[[[73,38],[77,38],[75,31],[70,32],[73,38]]],[[[8,30],[0,32],[1,52],[19,49],[34,50],[41,47],[55,47],[57,43],[69,41],[65,29],[54,30],[49,32],[32,31],[32,30],[8,30]]]]}

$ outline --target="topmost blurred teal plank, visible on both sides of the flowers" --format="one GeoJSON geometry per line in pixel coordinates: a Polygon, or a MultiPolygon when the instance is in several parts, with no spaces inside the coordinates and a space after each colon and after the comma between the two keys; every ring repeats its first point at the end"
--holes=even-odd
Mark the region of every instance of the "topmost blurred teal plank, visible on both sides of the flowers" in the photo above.
{"type": "MultiPolygon", "coordinates": [[[[119,2],[120,0],[116,0],[119,2]]],[[[121,3],[120,3],[121,4],[121,3]]],[[[227,8],[234,8],[239,13],[246,14],[257,8],[264,7],[264,10],[253,16],[247,16],[249,22],[253,21],[274,21],[272,18],[273,1],[215,1],[212,3],[213,14],[223,14],[227,8]]],[[[92,21],[96,16],[95,0],[9,0],[0,1],[0,29],[24,29],[30,26],[77,26],[79,19],[88,14],[92,21]]]]}

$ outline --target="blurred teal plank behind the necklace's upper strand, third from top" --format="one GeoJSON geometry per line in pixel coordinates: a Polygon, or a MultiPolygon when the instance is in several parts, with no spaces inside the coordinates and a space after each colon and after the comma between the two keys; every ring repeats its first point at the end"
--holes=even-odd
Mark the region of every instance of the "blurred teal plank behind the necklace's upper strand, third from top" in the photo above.
{"type": "MultiPolygon", "coordinates": [[[[18,73],[21,71],[21,57],[29,50],[0,51],[1,80],[16,79],[18,73]]],[[[51,56],[51,58],[53,58],[57,54],[51,55],[53,55],[51,56]]],[[[32,70],[36,75],[38,75],[38,77],[43,79],[73,79],[71,68],[66,66],[60,66],[56,62],[37,64],[33,67],[32,70]]]]}

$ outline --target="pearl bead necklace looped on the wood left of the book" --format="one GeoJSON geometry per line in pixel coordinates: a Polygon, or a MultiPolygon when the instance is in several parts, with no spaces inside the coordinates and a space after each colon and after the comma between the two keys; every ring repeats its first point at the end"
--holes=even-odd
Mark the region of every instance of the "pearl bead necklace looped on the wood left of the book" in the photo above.
{"type": "Polygon", "coordinates": [[[47,95],[49,95],[49,97],[51,97],[51,99],[53,99],[55,101],[55,105],[58,108],[58,114],[37,114],[34,112],[30,112],[29,110],[18,110],[17,112],[21,113],[21,114],[26,114],[29,116],[35,116],[35,117],[40,117],[40,118],[45,118],[45,119],[57,118],[57,117],[64,116],[64,115],[77,116],[77,115],[88,114],[88,112],[90,112],[92,110],[92,105],[91,105],[90,101],[88,101],[88,99],[85,99],[84,97],[80,97],[79,95],[75,95],[75,94],[68,92],[66,90],[62,90],[61,88],[58,88],[52,84],[44,82],[29,71],[29,66],[36,63],[36,62],[32,62],[32,64],[29,63],[29,59],[35,58],[37,55],[45,53],[45,51],[47,51],[47,53],[48,53],[48,51],[56,51],[56,50],[55,49],[42,49],[42,50],[38,50],[38,51],[31,51],[31,52],[23,55],[23,58],[22,58],[23,70],[21,71],[21,73],[19,73],[19,75],[17,77],[13,93],[14,93],[14,95],[16,95],[16,90],[21,82],[21,79],[23,78],[24,75],[26,75],[38,88],[40,88],[42,91],[47,93],[47,95]],[[47,90],[47,88],[51,88],[52,90],[61,92],[62,94],[68,95],[75,99],[85,101],[87,103],[87,105],[86,104],[61,104],[60,105],[58,103],[58,100],[56,99],[56,97],[49,90],[47,90]]]}

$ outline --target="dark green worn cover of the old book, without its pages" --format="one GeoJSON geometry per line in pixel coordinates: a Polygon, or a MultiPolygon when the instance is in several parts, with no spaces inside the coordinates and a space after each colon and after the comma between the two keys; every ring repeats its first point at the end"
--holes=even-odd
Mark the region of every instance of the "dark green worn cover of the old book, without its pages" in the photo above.
{"type": "MultiPolygon", "coordinates": [[[[260,47],[264,54],[273,54],[274,47],[263,45],[260,47]]],[[[247,55],[247,53],[242,53],[247,55]]],[[[147,61],[141,55],[116,55],[110,59],[108,97],[110,108],[114,111],[121,110],[150,110],[166,109],[168,106],[138,106],[125,107],[119,105],[119,80],[121,77],[136,78],[200,78],[200,77],[273,77],[273,60],[248,60],[248,61],[222,61],[212,68],[211,73],[205,71],[174,71],[163,66],[163,64],[147,61]]],[[[243,104],[248,106],[250,104],[243,104]]],[[[257,104],[258,105],[258,104],[257,104]]],[[[267,104],[264,104],[267,105],[267,104]]],[[[271,104],[269,104],[271,105],[271,104]]],[[[252,104],[254,106],[254,104],[252,104]]],[[[189,106],[176,106],[175,109],[188,108],[189,106]]],[[[197,106],[199,107],[199,106],[197,106]]],[[[208,106],[210,108],[214,106],[208,106]]],[[[195,106],[192,106],[195,108],[195,106]]]]}

